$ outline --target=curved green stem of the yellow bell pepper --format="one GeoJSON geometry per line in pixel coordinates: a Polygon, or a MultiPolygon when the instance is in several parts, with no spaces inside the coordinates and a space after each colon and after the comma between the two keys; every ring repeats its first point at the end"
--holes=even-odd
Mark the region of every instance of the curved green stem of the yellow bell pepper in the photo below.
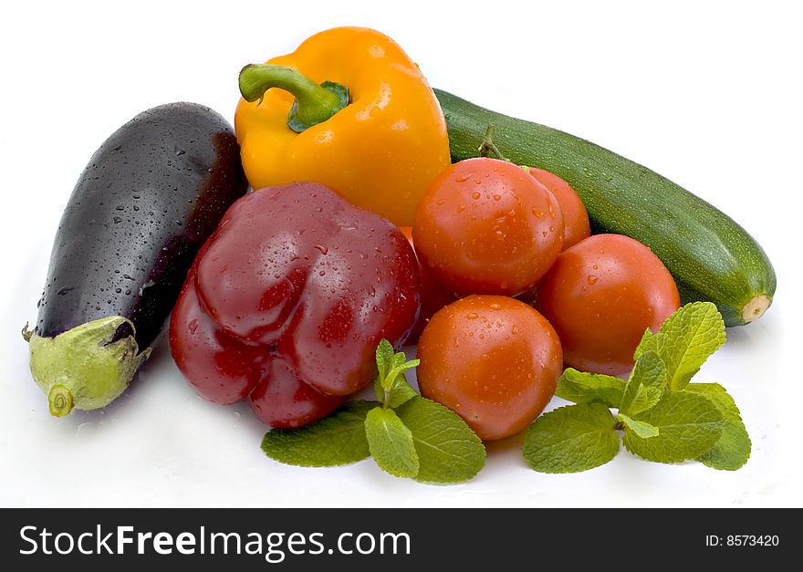
{"type": "Polygon", "coordinates": [[[240,70],[240,94],[245,101],[259,101],[270,88],[284,89],[296,98],[287,127],[300,133],[328,120],[349,105],[349,88],[332,81],[318,85],[297,69],[275,64],[248,64],[240,70]]]}

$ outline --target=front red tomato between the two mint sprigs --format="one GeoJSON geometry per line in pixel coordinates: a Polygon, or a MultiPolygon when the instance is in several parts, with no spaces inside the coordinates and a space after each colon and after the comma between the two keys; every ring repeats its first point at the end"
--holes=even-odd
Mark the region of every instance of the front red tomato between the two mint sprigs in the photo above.
{"type": "Polygon", "coordinates": [[[484,441],[522,431],[555,393],[563,356],[555,330],[506,296],[444,307],[418,343],[421,394],[463,417],[484,441]]]}

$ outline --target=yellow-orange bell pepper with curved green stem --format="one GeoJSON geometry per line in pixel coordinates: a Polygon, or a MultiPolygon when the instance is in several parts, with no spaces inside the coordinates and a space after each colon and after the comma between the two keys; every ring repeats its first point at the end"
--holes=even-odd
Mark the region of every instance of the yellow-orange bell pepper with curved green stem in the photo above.
{"type": "Polygon", "coordinates": [[[235,113],[255,189],[328,185],[397,225],[449,163],[443,112],[421,70],[390,37],[340,27],[240,72],[235,113]]]}

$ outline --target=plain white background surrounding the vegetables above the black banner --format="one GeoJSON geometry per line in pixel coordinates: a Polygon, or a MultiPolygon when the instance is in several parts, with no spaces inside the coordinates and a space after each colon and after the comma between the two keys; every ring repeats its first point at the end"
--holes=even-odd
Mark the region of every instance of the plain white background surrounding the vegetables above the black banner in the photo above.
{"type": "MultiPolygon", "coordinates": [[[[0,505],[775,506],[801,477],[801,22],[796,3],[104,2],[4,8],[0,54],[0,505]],[[751,3],[752,4],[752,3],[751,3]],[[716,204],[765,246],[775,304],[699,373],[742,409],[735,473],[627,452],[575,475],[531,472],[516,442],[474,481],[395,479],[370,461],[287,467],[243,404],[194,396],[167,344],[105,411],[47,413],[19,335],[61,211],[99,144],[143,109],[190,100],[234,119],[248,62],[328,27],[396,39],[433,86],[593,140],[716,204]]],[[[556,400],[557,401],[557,400],[556,400]]]]}

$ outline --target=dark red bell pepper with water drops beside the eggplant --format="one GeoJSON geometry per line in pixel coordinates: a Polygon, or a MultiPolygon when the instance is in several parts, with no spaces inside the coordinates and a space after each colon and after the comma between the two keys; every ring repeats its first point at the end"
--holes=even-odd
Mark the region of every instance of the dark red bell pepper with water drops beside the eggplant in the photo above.
{"type": "Polygon", "coordinates": [[[318,183],[246,195],[204,244],[173,310],[173,359],[207,400],[246,396],[297,427],[376,377],[381,338],[401,346],[421,306],[401,231],[318,183]]]}

